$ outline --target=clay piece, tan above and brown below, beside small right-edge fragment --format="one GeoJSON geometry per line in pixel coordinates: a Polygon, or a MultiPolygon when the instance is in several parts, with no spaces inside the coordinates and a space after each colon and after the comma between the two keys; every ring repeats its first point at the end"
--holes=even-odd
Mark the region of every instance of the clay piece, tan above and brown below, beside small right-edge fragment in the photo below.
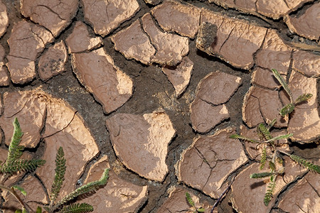
{"type": "Polygon", "coordinates": [[[266,69],[276,69],[287,75],[291,60],[292,48],[284,44],[277,31],[268,29],[261,50],[257,52],[257,65],[266,69]]]}

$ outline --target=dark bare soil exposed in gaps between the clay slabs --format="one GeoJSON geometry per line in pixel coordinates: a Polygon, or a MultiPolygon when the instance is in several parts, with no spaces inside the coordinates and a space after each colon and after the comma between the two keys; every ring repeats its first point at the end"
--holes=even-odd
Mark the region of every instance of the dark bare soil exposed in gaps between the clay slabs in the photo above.
{"type": "MultiPolygon", "coordinates": [[[[11,18],[11,20],[14,20],[14,22],[18,22],[21,19],[18,1],[5,0],[4,2],[6,2],[6,5],[9,6],[9,18],[11,18]]],[[[262,19],[255,16],[245,15],[244,13],[240,13],[233,9],[224,10],[219,6],[216,6],[215,4],[205,4],[199,1],[187,2],[198,7],[205,7],[212,11],[220,11],[227,16],[237,16],[238,18],[244,18],[257,23],[260,26],[277,28],[284,38],[289,38],[288,35],[292,38],[294,37],[294,35],[289,33],[283,21],[272,21],[271,19],[268,19],[269,23],[266,23],[262,19]],[[270,23],[272,24],[272,26],[270,26],[270,23]]],[[[117,31],[126,28],[135,20],[137,20],[137,18],[141,18],[145,13],[150,11],[151,6],[147,6],[144,1],[139,0],[139,4],[141,6],[141,9],[134,16],[134,18],[122,23],[122,25],[111,34],[117,33],[117,31]]],[[[79,8],[75,18],[73,18],[73,23],[70,24],[70,26],[68,26],[68,28],[66,28],[58,36],[58,38],[56,38],[56,41],[65,40],[65,38],[67,38],[68,35],[72,33],[76,21],[83,21],[83,11],[81,7],[79,8]]],[[[7,33],[0,40],[1,45],[3,45],[6,50],[6,53],[9,53],[9,45],[6,43],[6,40],[8,40],[9,38],[10,33],[8,32],[11,32],[12,27],[12,25],[9,26],[9,28],[7,29],[7,33]]],[[[92,31],[92,28],[90,28],[89,26],[87,28],[92,36],[95,35],[92,31]]],[[[148,201],[146,202],[146,204],[144,204],[139,212],[156,212],[156,209],[158,209],[159,206],[161,206],[161,204],[164,202],[164,198],[168,196],[167,189],[171,185],[176,185],[178,182],[175,175],[174,165],[180,158],[182,151],[191,145],[194,137],[198,136],[198,133],[193,131],[193,129],[191,128],[189,114],[189,104],[195,97],[198,82],[203,77],[208,75],[208,73],[215,72],[217,70],[242,78],[242,85],[238,88],[233,97],[227,103],[227,107],[230,112],[230,119],[227,119],[218,126],[215,126],[215,129],[208,133],[212,134],[218,129],[223,129],[227,126],[236,126],[238,128],[240,124],[242,124],[242,100],[245,92],[247,92],[250,87],[251,74],[247,70],[236,69],[235,67],[228,65],[228,63],[224,62],[223,60],[208,56],[206,53],[201,52],[196,48],[195,40],[191,39],[191,43],[189,44],[190,52],[188,53],[188,58],[190,58],[194,62],[191,81],[186,91],[183,92],[182,96],[176,99],[176,97],[174,96],[174,87],[169,82],[166,75],[164,75],[164,73],[161,71],[160,66],[146,66],[134,60],[126,60],[121,53],[114,50],[114,44],[112,43],[109,36],[106,36],[103,39],[103,43],[106,53],[112,56],[115,65],[117,65],[122,71],[129,75],[129,77],[131,77],[134,82],[133,96],[122,107],[117,109],[116,112],[112,112],[110,114],[105,114],[103,112],[102,106],[95,101],[92,94],[87,92],[85,87],[83,87],[76,78],[75,74],[72,71],[70,57],[68,59],[67,65],[65,66],[66,71],[61,75],[57,75],[46,82],[41,82],[41,80],[39,80],[39,78],[37,77],[37,80],[33,80],[33,82],[25,84],[23,86],[11,83],[9,87],[1,88],[1,93],[16,90],[33,89],[35,87],[41,86],[45,92],[53,94],[54,97],[59,97],[68,102],[85,120],[85,124],[92,132],[92,135],[94,136],[95,141],[100,148],[100,155],[108,156],[111,165],[119,170],[119,177],[136,185],[148,185],[148,201]],[[105,120],[110,116],[113,116],[114,114],[146,114],[151,113],[152,111],[159,109],[160,107],[166,110],[166,113],[169,115],[171,122],[176,129],[176,136],[169,144],[168,156],[166,158],[166,164],[169,166],[169,174],[166,176],[164,182],[162,183],[146,180],[144,178],[141,178],[134,172],[123,168],[121,163],[118,163],[117,157],[112,150],[109,133],[105,126],[105,120]]],[[[320,89],[318,89],[318,91],[320,91],[320,89]]],[[[317,146],[316,143],[312,143],[309,146],[298,146],[297,144],[293,144],[292,146],[294,147],[294,151],[296,151],[299,155],[309,158],[318,157],[316,156],[317,152],[315,150],[318,149],[319,146],[317,146]]],[[[93,163],[93,161],[95,161],[95,159],[93,159],[87,165],[87,168],[83,175],[84,178],[89,166],[93,163]]],[[[193,190],[191,188],[189,189],[195,195],[201,197],[201,200],[207,200],[210,204],[214,203],[214,200],[204,195],[203,192],[193,190]]],[[[228,203],[228,195],[220,204],[219,210],[221,212],[233,212],[233,208],[228,203]]]]}

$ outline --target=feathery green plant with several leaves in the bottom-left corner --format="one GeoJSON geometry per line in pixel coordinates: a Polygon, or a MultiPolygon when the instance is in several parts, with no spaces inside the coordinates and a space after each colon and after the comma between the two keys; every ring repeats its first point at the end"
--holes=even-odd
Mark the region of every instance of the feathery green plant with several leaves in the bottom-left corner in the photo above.
{"type": "MultiPolygon", "coordinates": [[[[20,195],[18,195],[17,191],[20,191],[22,195],[26,196],[26,191],[23,187],[14,185],[12,187],[7,187],[4,185],[4,182],[8,180],[12,175],[15,175],[18,172],[32,172],[36,170],[36,168],[44,165],[46,160],[40,159],[32,159],[32,160],[25,160],[20,159],[21,155],[23,154],[23,146],[19,146],[21,142],[21,138],[23,133],[21,131],[20,124],[18,123],[18,119],[14,119],[14,135],[12,136],[11,143],[9,145],[9,153],[6,161],[4,163],[0,162],[0,191],[6,190],[14,195],[16,200],[18,200],[19,204],[21,204],[21,209],[16,210],[15,213],[42,213],[42,208],[37,207],[36,211],[33,211],[31,207],[23,202],[20,195]]],[[[64,158],[63,148],[60,146],[58,148],[58,153],[55,157],[55,178],[53,180],[53,184],[51,186],[51,192],[49,194],[50,202],[43,207],[46,212],[53,213],[53,212],[61,212],[61,213],[82,213],[82,212],[92,212],[93,207],[87,203],[71,203],[75,200],[76,197],[79,195],[83,195],[90,192],[95,192],[99,187],[102,187],[107,184],[107,180],[109,178],[109,169],[105,169],[104,173],[102,174],[100,180],[92,181],[79,187],[78,189],[70,192],[69,195],[63,197],[60,201],[57,202],[57,197],[60,193],[60,189],[63,185],[63,180],[65,180],[65,158],[64,158]]]]}

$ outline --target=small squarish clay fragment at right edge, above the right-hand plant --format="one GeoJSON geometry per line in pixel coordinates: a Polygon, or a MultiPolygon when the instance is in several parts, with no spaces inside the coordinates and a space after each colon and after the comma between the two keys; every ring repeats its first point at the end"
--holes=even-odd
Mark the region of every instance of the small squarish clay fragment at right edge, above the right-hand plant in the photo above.
{"type": "Polygon", "coordinates": [[[297,50],[293,53],[292,69],[301,72],[306,77],[319,77],[320,56],[309,51],[297,50]]]}

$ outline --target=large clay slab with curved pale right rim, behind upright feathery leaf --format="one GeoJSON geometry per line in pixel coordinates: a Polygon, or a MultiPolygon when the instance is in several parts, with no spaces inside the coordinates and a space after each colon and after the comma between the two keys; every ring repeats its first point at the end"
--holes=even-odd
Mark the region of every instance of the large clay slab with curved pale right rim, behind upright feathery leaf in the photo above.
{"type": "Polygon", "coordinates": [[[46,150],[43,153],[46,166],[38,168],[36,173],[45,187],[50,189],[55,175],[53,169],[55,168],[55,155],[58,148],[62,146],[67,166],[65,177],[68,177],[68,181],[63,182],[58,197],[60,200],[61,197],[75,190],[75,184],[82,175],[85,165],[99,153],[99,150],[92,134],[83,123],[82,117],[75,114],[75,110],[63,100],[55,99],[48,94],[46,96],[48,111],[46,131],[43,137],[46,143],[46,150]],[[71,121],[70,117],[73,118],[71,121]]]}

